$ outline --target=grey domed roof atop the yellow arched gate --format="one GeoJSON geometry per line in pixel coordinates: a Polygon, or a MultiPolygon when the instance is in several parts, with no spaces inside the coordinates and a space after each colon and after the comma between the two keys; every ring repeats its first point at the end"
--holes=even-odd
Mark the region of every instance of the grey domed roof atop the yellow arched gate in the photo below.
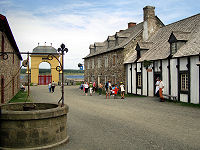
{"type": "MultiPolygon", "coordinates": [[[[57,53],[57,50],[52,46],[37,46],[33,49],[33,53],[57,53]]],[[[59,54],[59,53],[58,53],[59,54]]],[[[32,54],[36,55],[36,54],[32,54]]]]}

